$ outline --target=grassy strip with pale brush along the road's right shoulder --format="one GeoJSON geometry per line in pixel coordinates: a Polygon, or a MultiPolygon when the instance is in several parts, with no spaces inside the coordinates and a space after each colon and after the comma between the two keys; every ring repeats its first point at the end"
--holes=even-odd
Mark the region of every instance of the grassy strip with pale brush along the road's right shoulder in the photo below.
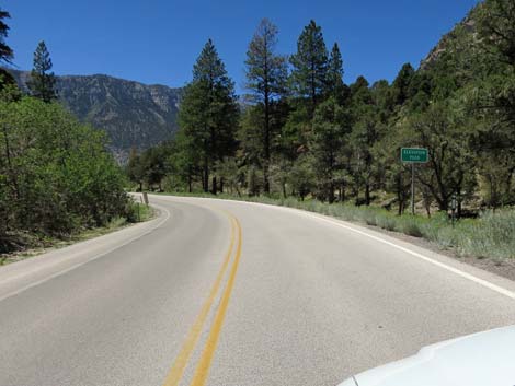
{"type": "Polygon", "coordinates": [[[306,210],[340,220],[377,226],[389,232],[422,237],[440,249],[450,250],[459,257],[508,259],[515,258],[515,209],[482,211],[478,218],[462,219],[453,224],[445,212],[425,215],[398,215],[374,206],[356,207],[353,203],[321,202],[316,199],[300,201],[295,197],[271,198],[265,196],[234,196],[204,192],[174,192],[186,197],[219,198],[227,200],[259,202],[306,210]]]}

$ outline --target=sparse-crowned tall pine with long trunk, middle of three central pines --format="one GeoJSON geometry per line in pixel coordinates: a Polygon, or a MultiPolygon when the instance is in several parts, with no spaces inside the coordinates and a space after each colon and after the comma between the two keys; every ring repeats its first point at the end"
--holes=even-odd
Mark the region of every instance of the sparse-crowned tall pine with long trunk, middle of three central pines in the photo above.
{"type": "Polygon", "coordinates": [[[270,192],[271,120],[275,98],[286,89],[286,58],[275,54],[277,27],[263,19],[249,45],[245,60],[247,87],[263,112],[263,189],[270,192]]]}

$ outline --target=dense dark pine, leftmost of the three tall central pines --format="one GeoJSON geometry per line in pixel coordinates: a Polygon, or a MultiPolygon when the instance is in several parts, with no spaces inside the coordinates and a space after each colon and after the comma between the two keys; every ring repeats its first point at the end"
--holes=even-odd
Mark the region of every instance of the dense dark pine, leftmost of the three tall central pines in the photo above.
{"type": "MultiPolygon", "coordinates": [[[[184,91],[179,112],[181,130],[194,139],[194,147],[187,149],[197,152],[196,157],[202,159],[204,191],[209,190],[211,167],[236,149],[238,118],[234,84],[209,39],[193,68],[193,82],[184,91]]],[[[217,190],[214,175],[211,191],[216,194],[217,190]]]]}

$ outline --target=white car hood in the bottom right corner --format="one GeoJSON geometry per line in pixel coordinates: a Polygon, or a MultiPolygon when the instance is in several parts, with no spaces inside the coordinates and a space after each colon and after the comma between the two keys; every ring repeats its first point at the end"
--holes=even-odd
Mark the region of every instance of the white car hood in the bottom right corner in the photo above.
{"type": "Polygon", "coordinates": [[[358,386],[514,386],[515,326],[425,347],[354,381],[358,386]]]}

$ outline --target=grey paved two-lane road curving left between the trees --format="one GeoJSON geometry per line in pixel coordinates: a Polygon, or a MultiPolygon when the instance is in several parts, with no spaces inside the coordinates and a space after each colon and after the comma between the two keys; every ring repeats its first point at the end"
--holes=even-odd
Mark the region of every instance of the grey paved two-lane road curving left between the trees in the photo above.
{"type": "Polygon", "coordinates": [[[515,324],[514,282],[317,214],[158,219],[0,269],[0,385],[320,385],[515,324]]]}

